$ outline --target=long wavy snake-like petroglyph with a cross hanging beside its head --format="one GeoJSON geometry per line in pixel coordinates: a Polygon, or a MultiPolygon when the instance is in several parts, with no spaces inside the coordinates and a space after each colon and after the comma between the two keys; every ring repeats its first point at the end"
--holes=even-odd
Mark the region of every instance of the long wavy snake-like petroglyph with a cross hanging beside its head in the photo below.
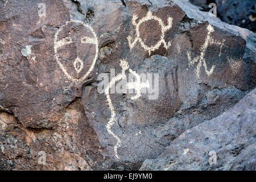
{"type": "MultiPolygon", "coordinates": [[[[107,103],[109,105],[109,109],[111,111],[111,117],[109,119],[109,122],[106,125],[106,129],[108,130],[108,133],[110,135],[112,135],[117,140],[117,143],[114,146],[114,152],[115,152],[115,158],[117,158],[118,160],[119,160],[119,156],[117,154],[117,148],[121,144],[121,139],[119,139],[119,137],[117,137],[117,135],[115,135],[113,133],[113,131],[111,130],[111,127],[115,123],[115,110],[114,110],[114,107],[113,107],[113,104],[112,104],[112,100],[110,98],[109,90],[115,84],[115,82],[118,82],[118,81],[126,78],[125,72],[129,69],[129,64],[127,63],[127,61],[125,59],[120,60],[120,67],[122,68],[122,73],[113,77],[112,80],[109,82],[108,86],[106,87],[105,91],[104,91],[104,93],[106,95],[107,103]]],[[[135,96],[131,97],[132,100],[135,100],[135,99],[137,99],[141,96],[141,90],[143,88],[149,88],[150,84],[149,84],[148,80],[147,80],[146,83],[141,82],[141,78],[139,77],[138,73],[136,73],[132,69],[129,69],[129,72],[136,77],[136,81],[128,82],[126,84],[126,86],[127,86],[127,89],[137,90],[137,94],[135,96]]]]}

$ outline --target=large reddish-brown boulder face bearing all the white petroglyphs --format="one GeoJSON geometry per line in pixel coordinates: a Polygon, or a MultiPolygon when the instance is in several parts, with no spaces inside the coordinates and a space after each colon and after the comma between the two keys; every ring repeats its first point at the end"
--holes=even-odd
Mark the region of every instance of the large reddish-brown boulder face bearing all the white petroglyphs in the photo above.
{"type": "Polygon", "coordinates": [[[255,88],[255,34],[185,0],[13,0],[0,9],[0,169],[139,169],[255,88]],[[163,23],[136,29],[143,17],[163,23]],[[132,44],[136,31],[144,48],[132,44]],[[121,59],[130,72],[159,74],[155,100],[111,93],[110,107],[98,76],[121,73],[121,59]]]}

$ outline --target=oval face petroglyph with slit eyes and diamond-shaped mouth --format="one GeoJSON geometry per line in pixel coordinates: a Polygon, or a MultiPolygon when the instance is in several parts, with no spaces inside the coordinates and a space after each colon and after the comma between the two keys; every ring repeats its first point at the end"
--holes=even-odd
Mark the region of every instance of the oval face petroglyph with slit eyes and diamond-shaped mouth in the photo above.
{"type": "Polygon", "coordinates": [[[65,76],[72,81],[83,81],[97,60],[97,36],[88,24],[69,20],[55,34],[54,52],[65,76]]]}

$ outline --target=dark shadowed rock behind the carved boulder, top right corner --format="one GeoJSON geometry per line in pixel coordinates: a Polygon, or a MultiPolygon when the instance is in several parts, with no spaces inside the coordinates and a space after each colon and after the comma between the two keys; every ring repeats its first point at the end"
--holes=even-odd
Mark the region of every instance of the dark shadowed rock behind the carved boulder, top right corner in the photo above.
{"type": "Polygon", "coordinates": [[[255,0],[189,0],[193,5],[209,11],[210,3],[216,3],[217,17],[222,21],[256,32],[255,0]]]}

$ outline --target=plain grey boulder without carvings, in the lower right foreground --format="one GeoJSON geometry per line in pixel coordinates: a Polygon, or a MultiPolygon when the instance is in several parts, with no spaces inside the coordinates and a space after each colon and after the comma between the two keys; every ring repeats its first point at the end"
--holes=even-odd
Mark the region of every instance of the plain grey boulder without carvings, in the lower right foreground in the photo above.
{"type": "Polygon", "coordinates": [[[141,170],[255,170],[256,89],[224,114],[185,131],[141,170]],[[216,164],[208,153],[215,151],[216,164]]]}

